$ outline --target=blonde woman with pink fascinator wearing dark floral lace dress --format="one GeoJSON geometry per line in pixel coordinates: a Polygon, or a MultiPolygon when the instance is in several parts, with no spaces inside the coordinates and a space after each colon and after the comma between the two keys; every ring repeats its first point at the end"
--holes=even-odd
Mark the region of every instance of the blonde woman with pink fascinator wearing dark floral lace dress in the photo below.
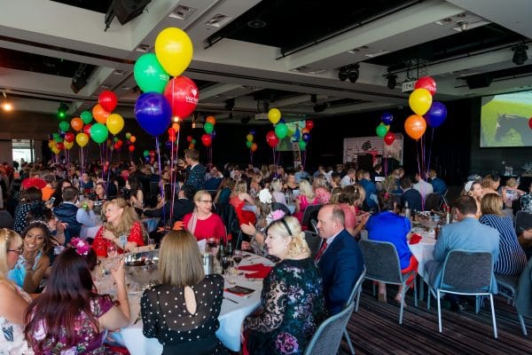
{"type": "Polygon", "coordinates": [[[321,276],[295,217],[273,222],[266,245],[281,261],[262,282],[261,309],[244,320],[244,346],[254,355],[302,354],[327,317],[321,276]]]}

